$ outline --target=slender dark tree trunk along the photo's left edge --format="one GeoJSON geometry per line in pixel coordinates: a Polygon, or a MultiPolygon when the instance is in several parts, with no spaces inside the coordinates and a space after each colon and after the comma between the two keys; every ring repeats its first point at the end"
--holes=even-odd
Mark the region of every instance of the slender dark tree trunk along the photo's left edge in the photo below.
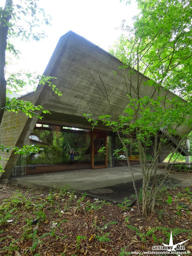
{"type": "Polygon", "coordinates": [[[7,86],[7,81],[5,80],[5,51],[7,47],[7,35],[8,35],[8,26],[7,23],[11,19],[11,13],[12,13],[12,0],[6,0],[5,2],[5,9],[10,10],[10,15],[7,17],[4,17],[3,19],[6,20],[5,22],[3,19],[1,20],[0,23],[0,124],[2,121],[3,113],[4,113],[4,108],[5,103],[6,103],[6,86],[7,86]]]}

